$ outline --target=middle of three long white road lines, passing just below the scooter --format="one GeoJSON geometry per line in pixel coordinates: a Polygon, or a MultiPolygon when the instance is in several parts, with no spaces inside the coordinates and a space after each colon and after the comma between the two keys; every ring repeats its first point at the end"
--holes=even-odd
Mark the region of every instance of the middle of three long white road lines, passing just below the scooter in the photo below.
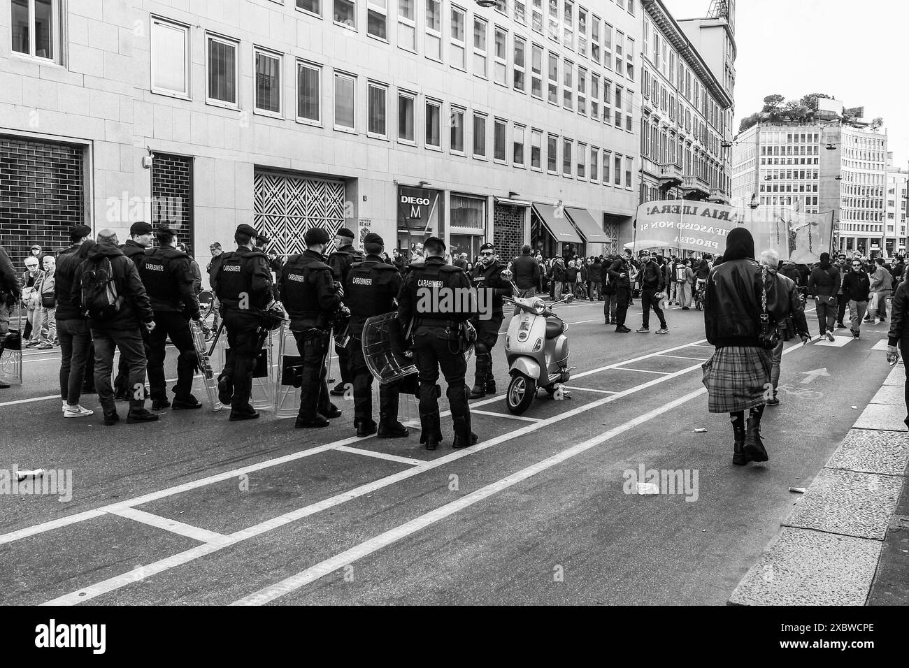
{"type": "MultiPolygon", "coordinates": [[[[674,372],[673,374],[665,375],[662,378],[654,378],[654,380],[648,381],[647,383],[635,385],[634,387],[630,387],[627,390],[624,390],[620,393],[612,394],[610,396],[604,397],[603,399],[599,399],[597,401],[591,402],[590,404],[583,404],[581,406],[578,406],[577,408],[574,408],[571,411],[566,411],[563,414],[554,415],[553,417],[546,418],[545,420],[541,420],[540,422],[537,422],[537,423],[527,424],[526,426],[516,429],[513,432],[509,432],[507,434],[502,434],[493,439],[490,439],[489,441],[485,441],[482,444],[472,445],[468,448],[464,448],[464,450],[457,451],[452,454],[447,454],[447,455],[445,455],[443,457],[439,457],[438,459],[435,459],[431,462],[426,462],[425,464],[421,464],[419,466],[414,466],[413,468],[411,468],[407,471],[402,471],[397,474],[386,476],[385,478],[380,478],[379,480],[376,480],[372,483],[363,484],[363,485],[360,485],[359,487],[355,487],[355,489],[350,490],[348,492],[344,492],[342,494],[336,494],[335,496],[325,499],[324,501],[312,503],[308,506],[305,506],[304,508],[300,508],[298,510],[291,511],[291,512],[285,513],[283,515],[279,515],[278,517],[275,517],[270,520],[266,520],[263,523],[255,524],[254,526],[251,526],[246,529],[242,529],[238,532],[230,534],[221,543],[218,543],[218,544],[205,543],[203,545],[199,545],[197,547],[190,548],[189,550],[186,550],[185,552],[182,552],[179,554],[174,554],[169,557],[165,557],[165,559],[159,560],[155,563],[145,564],[143,566],[139,579],[145,579],[146,577],[151,577],[152,575],[155,575],[157,573],[164,573],[165,571],[175,568],[176,566],[184,565],[185,563],[195,561],[196,559],[199,559],[208,554],[218,552],[219,550],[222,550],[225,547],[229,547],[236,543],[240,543],[240,542],[243,542],[250,538],[254,538],[255,536],[261,535],[263,533],[273,531],[277,528],[285,526],[285,524],[295,522],[297,520],[303,519],[303,518],[308,517],[315,513],[320,513],[328,508],[333,508],[337,505],[340,505],[341,503],[346,503],[348,501],[352,501],[365,494],[371,494],[371,493],[373,493],[377,490],[380,490],[384,487],[387,487],[389,485],[396,484],[396,483],[402,482],[408,478],[414,477],[415,475],[423,474],[427,471],[438,468],[439,466],[443,466],[445,464],[450,464],[451,462],[454,462],[463,457],[482,452],[486,448],[494,447],[494,445],[498,445],[498,444],[505,443],[507,441],[511,441],[515,438],[524,436],[526,434],[533,434],[534,432],[539,431],[540,429],[544,428],[545,426],[549,426],[551,424],[555,424],[555,423],[561,422],[563,420],[572,418],[575,415],[583,414],[587,411],[594,410],[595,408],[599,408],[600,406],[603,406],[605,404],[610,404],[614,401],[617,401],[617,400],[623,398],[624,396],[628,396],[630,394],[641,392],[642,390],[653,387],[654,385],[663,384],[669,380],[672,380],[673,378],[676,378],[676,377],[684,375],[684,374],[688,374],[688,373],[690,373],[696,369],[700,369],[700,368],[701,368],[700,364],[695,364],[694,366],[691,366],[687,369],[681,369],[677,372],[674,372]]],[[[356,439],[356,437],[355,437],[354,440],[360,440],[360,439],[356,439]]],[[[322,447],[325,447],[325,446],[322,446],[322,447]]],[[[325,448],[325,449],[328,449],[328,448],[325,448]]],[[[231,477],[231,476],[227,476],[227,477],[231,477]]],[[[154,495],[155,494],[146,494],[146,496],[154,496],[154,495]]],[[[126,503],[129,503],[129,502],[124,502],[124,504],[126,504],[126,503]]],[[[130,503],[130,504],[132,504],[132,503],[130,503]]],[[[27,531],[27,530],[23,530],[23,531],[27,531]]],[[[3,541],[4,537],[5,536],[0,536],[0,543],[4,542],[3,541]]],[[[116,589],[125,587],[127,584],[135,583],[136,579],[137,579],[137,575],[135,572],[129,572],[129,573],[123,573],[120,575],[115,575],[114,577],[108,578],[107,580],[104,580],[100,583],[95,583],[93,585],[90,585],[83,589],[77,590],[75,592],[67,593],[62,596],[59,596],[59,597],[53,599],[52,601],[42,603],[42,605],[75,605],[77,603],[83,603],[85,601],[89,601],[93,598],[96,598],[97,596],[100,596],[104,593],[110,593],[110,592],[115,591],[116,589]]]]}

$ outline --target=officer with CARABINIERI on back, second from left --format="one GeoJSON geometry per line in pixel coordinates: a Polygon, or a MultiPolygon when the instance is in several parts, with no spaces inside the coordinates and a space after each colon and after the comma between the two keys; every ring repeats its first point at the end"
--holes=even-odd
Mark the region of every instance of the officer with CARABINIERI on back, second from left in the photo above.
{"type": "Polygon", "coordinates": [[[239,225],[234,234],[236,250],[212,261],[212,290],[221,303],[229,346],[224,371],[218,376],[218,400],[230,404],[230,419],[234,421],[259,416],[249,396],[255,358],[263,344],[262,315],[272,301],[272,273],[265,254],[254,250],[257,236],[252,226],[239,225]]]}

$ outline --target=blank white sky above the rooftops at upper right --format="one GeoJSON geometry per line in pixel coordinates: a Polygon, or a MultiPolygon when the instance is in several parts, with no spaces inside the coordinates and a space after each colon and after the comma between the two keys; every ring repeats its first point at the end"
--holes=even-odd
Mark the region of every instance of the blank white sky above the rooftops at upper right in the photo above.
{"type": "MultiPolygon", "coordinates": [[[[663,0],[676,18],[710,0],[663,0]]],[[[905,0],[736,0],[735,119],[764,97],[825,93],[867,120],[884,118],[894,165],[909,160],[909,3],[905,0]]]]}

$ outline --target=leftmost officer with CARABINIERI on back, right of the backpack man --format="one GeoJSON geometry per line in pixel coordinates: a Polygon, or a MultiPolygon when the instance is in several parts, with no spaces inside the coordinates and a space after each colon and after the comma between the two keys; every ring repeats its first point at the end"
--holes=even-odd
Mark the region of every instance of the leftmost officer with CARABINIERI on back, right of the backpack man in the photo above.
{"type": "Polygon", "coordinates": [[[137,263],[145,292],[155,311],[155,329],[147,336],[148,385],[153,411],[171,406],[167,401],[165,384],[165,344],[168,336],[180,351],[176,359],[174,410],[202,407],[190,394],[199,360],[188,324],[189,318],[199,320],[199,301],[193,289],[195,277],[189,255],[176,249],[175,235],[176,232],[166,225],[158,227],[155,232],[158,247],[146,249],[137,263]]]}

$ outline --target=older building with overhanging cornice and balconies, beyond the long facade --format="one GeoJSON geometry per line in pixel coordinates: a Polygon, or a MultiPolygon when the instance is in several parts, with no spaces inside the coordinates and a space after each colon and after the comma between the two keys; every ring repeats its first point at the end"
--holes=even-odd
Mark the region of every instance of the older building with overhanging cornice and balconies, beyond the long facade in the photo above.
{"type": "Polygon", "coordinates": [[[721,77],[735,57],[734,9],[677,22],[661,0],[642,5],[640,199],[728,202],[734,70],[721,77]],[[709,63],[699,45],[712,53],[709,63]]]}

